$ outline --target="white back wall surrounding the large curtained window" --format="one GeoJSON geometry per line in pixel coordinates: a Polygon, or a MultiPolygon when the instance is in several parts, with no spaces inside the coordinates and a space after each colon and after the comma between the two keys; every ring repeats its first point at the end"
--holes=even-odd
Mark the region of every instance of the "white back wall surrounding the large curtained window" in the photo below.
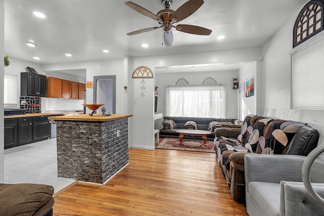
{"type": "Polygon", "coordinates": [[[211,77],[217,84],[226,86],[226,118],[237,119],[237,89],[233,88],[233,78],[238,77],[238,71],[210,71],[199,72],[198,69],[188,73],[163,73],[156,74],[155,85],[158,87],[157,113],[166,111],[166,88],[168,85],[175,85],[181,78],[187,80],[189,85],[201,85],[211,77]]]}

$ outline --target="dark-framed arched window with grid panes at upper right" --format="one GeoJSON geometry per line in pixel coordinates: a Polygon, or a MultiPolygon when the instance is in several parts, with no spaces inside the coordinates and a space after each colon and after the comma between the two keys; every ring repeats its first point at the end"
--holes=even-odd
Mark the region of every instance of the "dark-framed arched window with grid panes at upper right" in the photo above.
{"type": "Polygon", "coordinates": [[[294,25],[293,47],[323,30],[322,0],[312,0],[299,13],[294,25]]]}

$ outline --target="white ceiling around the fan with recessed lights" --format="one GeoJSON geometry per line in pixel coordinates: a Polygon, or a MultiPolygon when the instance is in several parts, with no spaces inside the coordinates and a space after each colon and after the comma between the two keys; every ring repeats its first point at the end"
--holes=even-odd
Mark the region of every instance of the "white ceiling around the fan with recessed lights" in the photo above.
{"type": "MultiPolygon", "coordinates": [[[[124,56],[168,55],[263,45],[306,3],[305,0],[205,0],[179,24],[213,30],[209,36],[173,30],[172,47],[162,43],[162,29],[134,36],[129,32],[157,26],[120,0],[5,0],[5,53],[39,64],[56,64],[124,56]],[[46,15],[35,17],[32,12],[46,15]],[[225,35],[225,39],[216,39],[225,35]],[[36,47],[26,41],[33,40],[36,47]],[[148,48],[141,44],[147,43],[148,48]],[[102,52],[108,49],[109,53],[102,52]],[[71,53],[72,57],[66,57],[71,53]],[[40,60],[34,60],[39,57],[40,60]]],[[[133,0],[156,14],[161,0],[133,0]]],[[[173,0],[176,10],[186,0],[173,0]]]]}

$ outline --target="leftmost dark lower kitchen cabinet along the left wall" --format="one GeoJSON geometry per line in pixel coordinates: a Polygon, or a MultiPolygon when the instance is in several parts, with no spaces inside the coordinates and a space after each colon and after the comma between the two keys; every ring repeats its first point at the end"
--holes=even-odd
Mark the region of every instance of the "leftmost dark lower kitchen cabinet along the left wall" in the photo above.
{"type": "Polygon", "coordinates": [[[17,123],[18,123],[17,118],[5,119],[5,124],[4,124],[5,149],[14,147],[18,143],[17,123]]]}

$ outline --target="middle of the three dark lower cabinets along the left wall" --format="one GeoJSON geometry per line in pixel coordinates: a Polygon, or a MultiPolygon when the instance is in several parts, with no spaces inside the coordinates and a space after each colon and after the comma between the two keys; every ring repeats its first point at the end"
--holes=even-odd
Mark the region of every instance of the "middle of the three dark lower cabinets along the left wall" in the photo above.
{"type": "Polygon", "coordinates": [[[32,118],[18,118],[18,145],[32,141],[32,118]]]}

